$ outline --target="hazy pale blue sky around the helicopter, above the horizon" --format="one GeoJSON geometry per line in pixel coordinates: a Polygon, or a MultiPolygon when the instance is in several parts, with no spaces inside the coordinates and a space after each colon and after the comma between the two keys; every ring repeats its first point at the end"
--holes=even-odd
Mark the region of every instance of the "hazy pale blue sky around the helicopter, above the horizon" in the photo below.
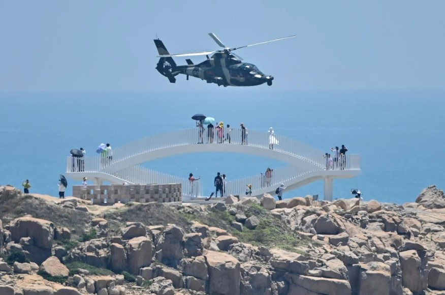
{"type": "MultiPolygon", "coordinates": [[[[0,0],[0,92],[211,90],[154,69],[171,53],[237,51],[265,90],[445,88],[445,1],[0,0]]],[[[194,57],[196,63],[202,57],[194,57]]],[[[178,64],[185,63],[183,59],[178,64]]],[[[222,87],[220,87],[222,88],[222,87]]]]}

